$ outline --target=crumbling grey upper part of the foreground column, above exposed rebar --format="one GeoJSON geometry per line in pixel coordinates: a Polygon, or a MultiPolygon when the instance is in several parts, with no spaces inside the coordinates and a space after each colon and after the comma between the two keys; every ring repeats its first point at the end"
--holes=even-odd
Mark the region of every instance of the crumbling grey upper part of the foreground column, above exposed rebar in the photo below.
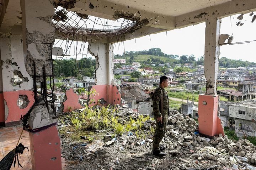
{"type": "MultiPolygon", "coordinates": [[[[52,24],[54,16],[54,6],[51,1],[31,1],[22,0],[22,31],[23,31],[23,51],[25,66],[30,77],[34,75],[34,63],[36,64],[36,74],[43,75],[43,65],[46,67],[46,74],[52,75],[50,62],[50,44],[54,44],[55,28],[52,24]],[[38,8],[38,7],[41,8],[38,8]],[[26,40],[26,41],[25,41],[26,40]]],[[[37,78],[37,83],[42,78],[37,78]]]]}

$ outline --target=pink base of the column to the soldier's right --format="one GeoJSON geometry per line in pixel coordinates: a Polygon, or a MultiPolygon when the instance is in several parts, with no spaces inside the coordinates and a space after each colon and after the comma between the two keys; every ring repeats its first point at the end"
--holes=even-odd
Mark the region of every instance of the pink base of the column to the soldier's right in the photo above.
{"type": "Polygon", "coordinates": [[[221,120],[217,116],[218,113],[218,96],[199,95],[198,102],[198,123],[199,132],[204,135],[214,136],[222,134],[224,131],[221,125],[221,120]],[[203,102],[207,104],[203,104],[203,102]]]}

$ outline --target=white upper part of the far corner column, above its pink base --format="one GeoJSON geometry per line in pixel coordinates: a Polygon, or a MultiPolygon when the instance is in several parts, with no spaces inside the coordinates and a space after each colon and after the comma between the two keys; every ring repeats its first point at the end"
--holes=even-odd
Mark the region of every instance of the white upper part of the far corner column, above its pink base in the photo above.
{"type": "Polygon", "coordinates": [[[89,43],[88,51],[96,58],[97,85],[112,85],[113,74],[113,45],[89,43]]]}

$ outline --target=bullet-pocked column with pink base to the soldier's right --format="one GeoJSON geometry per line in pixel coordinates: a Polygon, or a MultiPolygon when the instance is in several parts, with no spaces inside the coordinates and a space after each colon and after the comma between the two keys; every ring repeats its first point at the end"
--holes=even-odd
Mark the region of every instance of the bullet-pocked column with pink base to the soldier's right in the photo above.
{"type": "Polygon", "coordinates": [[[219,36],[220,19],[215,11],[209,9],[209,19],[206,20],[205,48],[204,48],[204,75],[206,78],[206,93],[199,95],[198,123],[199,132],[214,136],[222,134],[223,127],[218,114],[218,96],[216,95],[216,83],[219,67],[219,36]]]}

